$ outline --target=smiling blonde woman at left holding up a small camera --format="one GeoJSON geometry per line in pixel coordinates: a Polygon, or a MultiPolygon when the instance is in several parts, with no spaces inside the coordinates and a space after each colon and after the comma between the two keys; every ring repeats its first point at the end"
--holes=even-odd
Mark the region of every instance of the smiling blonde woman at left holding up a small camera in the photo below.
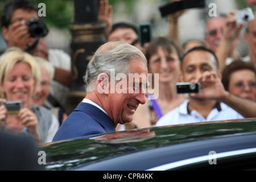
{"type": "Polygon", "coordinates": [[[29,135],[37,143],[46,142],[52,115],[41,106],[30,105],[40,82],[40,69],[34,57],[18,48],[10,48],[0,58],[0,122],[5,130],[29,135]],[[6,101],[21,101],[22,108],[7,114],[6,101]]]}

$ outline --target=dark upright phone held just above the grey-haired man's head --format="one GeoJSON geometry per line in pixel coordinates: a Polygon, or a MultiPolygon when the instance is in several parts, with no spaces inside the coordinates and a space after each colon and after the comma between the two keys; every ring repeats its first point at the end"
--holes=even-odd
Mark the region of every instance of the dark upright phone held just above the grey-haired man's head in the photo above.
{"type": "Polygon", "coordinates": [[[151,42],[151,39],[152,24],[149,22],[139,24],[139,42],[141,43],[141,47],[143,47],[145,43],[151,42]]]}

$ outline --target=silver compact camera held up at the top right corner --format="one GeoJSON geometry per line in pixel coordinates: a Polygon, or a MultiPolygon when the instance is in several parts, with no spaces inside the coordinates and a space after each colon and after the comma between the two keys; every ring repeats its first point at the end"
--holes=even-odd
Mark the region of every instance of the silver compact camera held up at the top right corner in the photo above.
{"type": "Polygon", "coordinates": [[[237,24],[242,24],[243,22],[250,22],[251,20],[254,20],[253,10],[251,10],[250,7],[237,11],[234,16],[237,19],[237,24]]]}

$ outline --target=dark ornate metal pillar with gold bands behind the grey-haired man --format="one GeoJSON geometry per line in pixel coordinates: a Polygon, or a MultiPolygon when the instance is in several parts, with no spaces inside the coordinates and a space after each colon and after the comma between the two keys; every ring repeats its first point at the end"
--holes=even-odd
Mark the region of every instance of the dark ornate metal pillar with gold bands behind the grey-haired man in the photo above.
{"type": "Polygon", "coordinates": [[[71,24],[72,33],[72,86],[68,102],[71,105],[69,113],[86,96],[83,77],[87,64],[93,53],[106,42],[104,36],[105,24],[97,20],[97,0],[74,0],[75,20],[71,24]]]}

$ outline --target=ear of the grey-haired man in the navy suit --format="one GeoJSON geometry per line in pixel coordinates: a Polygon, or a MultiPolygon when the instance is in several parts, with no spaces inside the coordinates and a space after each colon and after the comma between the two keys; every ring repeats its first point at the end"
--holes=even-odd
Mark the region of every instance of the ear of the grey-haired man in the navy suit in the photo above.
{"type": "Polygon", "coordinates": [[[96,92],[100,94],[109,94],[110,78],[107,73],[101,73],[100,75],[98,75],[95,88],[97,89],[96,92]]]}

